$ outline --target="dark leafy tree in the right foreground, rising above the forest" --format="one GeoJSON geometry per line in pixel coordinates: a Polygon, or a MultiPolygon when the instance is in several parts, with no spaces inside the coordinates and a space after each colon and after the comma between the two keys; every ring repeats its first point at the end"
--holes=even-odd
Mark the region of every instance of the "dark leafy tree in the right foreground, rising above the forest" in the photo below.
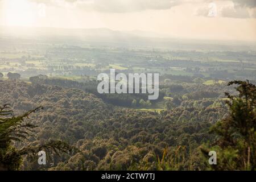
{"type": "MultiPolygon", "coordinates": [[[[232,81],[239,85],[238,95],[226,93],[229,114],[211,129],[217,140],[210,150],[217,152],[217,170],[256,169],[256,88],[249,81],[232,81]]],[[[209,150],[201,148],[208,156],[209,150]]]]}

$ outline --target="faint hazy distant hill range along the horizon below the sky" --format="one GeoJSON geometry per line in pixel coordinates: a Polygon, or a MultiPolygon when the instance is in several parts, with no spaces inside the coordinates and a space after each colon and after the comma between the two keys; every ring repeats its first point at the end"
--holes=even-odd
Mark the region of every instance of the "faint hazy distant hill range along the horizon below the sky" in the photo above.
{"type": "MultiPolygon", "coordinates": [[[[102,46],[138,46],[171,49],[221,49],[236,47],[247,50],[255,43],[218,40],[171,38],[150,31],[115,31],[109,28],[68,29],[51,27],[5,27],[0,26],[0,39],[39,40],[42,43],[101,44],[102,46]]],[[[8,40],[6,40],[8,42],[8,40]]]]}

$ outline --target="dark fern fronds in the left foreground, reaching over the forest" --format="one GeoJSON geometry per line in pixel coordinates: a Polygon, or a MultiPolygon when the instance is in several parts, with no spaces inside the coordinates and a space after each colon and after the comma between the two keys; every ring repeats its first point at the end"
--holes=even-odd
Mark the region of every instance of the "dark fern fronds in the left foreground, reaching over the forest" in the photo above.
{"type": "Polygon", "coordinates": [[[40,109],[43,109],[43,107],[37,107],[18,117],[14,117],[13,110],[10,110],[9,105],[0,107],[0,170],[18,170],[22,163],[22,156],[35,155],[40,150],[53,150],[57,154],[73,150],[69,144],[60,140],[50,140],[44,144],[26,146],[20,149],[13,146],[14,141],[20,142],[32,135],[36,126],[27,122],[25,118],[40,109]]]}

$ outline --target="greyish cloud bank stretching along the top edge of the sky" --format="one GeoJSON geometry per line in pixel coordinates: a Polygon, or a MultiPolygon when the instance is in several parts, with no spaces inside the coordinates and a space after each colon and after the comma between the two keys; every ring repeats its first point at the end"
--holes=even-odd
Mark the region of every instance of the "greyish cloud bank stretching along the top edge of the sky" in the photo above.
{"type": "MultiPolygon", "coordinates": [[[[1,0],[0,0],[1,1],[1,0]]],[[[255,18],[256,0],[29,0],[48,6],[69,7],[83,11],[131,13],[144,10],[167,10],[174,6],[193,3],[196,15],[206,17],[255,18]],[[215,2],[215,1],[214,1],[215,2]],[[226,6],[228,4],[228,6],[226,6]],[[203,5],[203,6],[201,6],[203,5]]]]}

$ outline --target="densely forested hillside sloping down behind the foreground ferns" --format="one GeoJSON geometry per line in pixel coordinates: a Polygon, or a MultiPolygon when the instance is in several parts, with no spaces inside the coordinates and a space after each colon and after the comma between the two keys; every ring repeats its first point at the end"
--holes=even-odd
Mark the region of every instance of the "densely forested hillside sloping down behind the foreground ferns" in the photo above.
{"type": "MultiPolygon", "coordinates": [[[[81,150],[61,159],[52,156],[53,166],[44,169],[157,169],[158,158],[166,153],[167,159],[176,160],[176,150],[184,156],[170,164],[172,169],[199,169],[204,162],[198,163],[197,147],[212,139],[209,127],[225,111],[221,107],[136,111],[107,105],[79,89],[22,81],[1,81],[0,92],[1,104],[10,103],[15,114],[44,107],[31,117],[39,127],[26,143],[61,139],[81,150]]],[[[24,160],[24,169],[38,167],[30,157],[24,160]]]]}

